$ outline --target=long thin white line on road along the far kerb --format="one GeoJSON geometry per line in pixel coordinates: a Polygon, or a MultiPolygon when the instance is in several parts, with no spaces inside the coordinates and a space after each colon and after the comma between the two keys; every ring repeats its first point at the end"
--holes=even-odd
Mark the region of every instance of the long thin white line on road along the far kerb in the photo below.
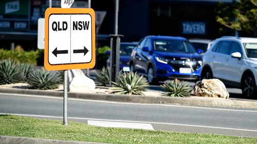
{"type": "MultiPolygon", "coordinates": [[[[16,96],[26,96],[26,97],[40,97],[40,98],[53,98],[53,99],[63,99],[63,97],[56,96],[40,96],[40,95],[25,95],[25,94],[8,94],[0,93],[3,95],[16,95],[16,96]]],[[[145,106],[167,106],[167,107],[179,107],[179,108],[193,108],[193,109],[206,109],[206,110],[220,110],[220,111],[236,111],[236,112],[254,112],[257,113],[257,110],[233,110],[233,109],[222,109],[222,108],[207,108],[207,107],[196,107],[196,106],[177,106],[177,105],[166,105],[166,104],[138,104],[131,102],[115,102],[115,101],[105,101],[105,100],[93,100],[93,99],[80,99],[80,98],[68,98],[69,100],[77,101],[92,101],[92,102],[103,102],[109,104],[123,104],[123,105],[145,105],[145,106]]],[[[257,101],[256,101],[257,102],[257,101]]]]}

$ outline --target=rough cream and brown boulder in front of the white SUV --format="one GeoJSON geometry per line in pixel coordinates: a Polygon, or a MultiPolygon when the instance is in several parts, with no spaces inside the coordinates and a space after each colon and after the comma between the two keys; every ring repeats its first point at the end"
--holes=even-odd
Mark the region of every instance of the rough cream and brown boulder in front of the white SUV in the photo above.
{"type": "Polygon", "coordinates": [[[196,96],[228,98],[229,93],[219,79],[203,79],[198,81],[192,93],[196,96]]]}

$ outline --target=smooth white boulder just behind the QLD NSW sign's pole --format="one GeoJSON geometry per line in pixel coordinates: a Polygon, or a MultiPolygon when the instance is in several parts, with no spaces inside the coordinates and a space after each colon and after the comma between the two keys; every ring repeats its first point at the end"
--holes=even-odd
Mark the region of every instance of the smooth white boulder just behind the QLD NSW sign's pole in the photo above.
{"type": "Polygon", "coordinates": [[[68,70],[68,91],[90,92],[95,88],[95,81],[85,76],[82,70],[68,70]]]}

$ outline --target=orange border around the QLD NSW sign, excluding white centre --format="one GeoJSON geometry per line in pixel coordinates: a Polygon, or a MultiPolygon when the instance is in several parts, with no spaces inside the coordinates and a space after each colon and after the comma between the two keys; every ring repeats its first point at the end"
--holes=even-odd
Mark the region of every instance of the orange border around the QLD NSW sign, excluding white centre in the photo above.
{"type": "Polygon", "coordinates": [[[45,12],[45,54],[44,54],[44,66],[48,71],[54,70],[71,70],[71,69],[91,69],[96,64],[96,29],[95,29],[95,11],[90,8],[48,8],[45,12]],[[61,64],[50,65],[48,61],[48,19],[51,14],[89,14],[91,16],[92,24],[92,59],[90,63],[83,64],[61,64]]]}

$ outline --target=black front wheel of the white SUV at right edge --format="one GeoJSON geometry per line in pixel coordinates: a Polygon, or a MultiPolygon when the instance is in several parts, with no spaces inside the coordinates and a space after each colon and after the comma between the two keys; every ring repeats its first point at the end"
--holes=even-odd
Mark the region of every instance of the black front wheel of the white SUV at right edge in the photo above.
{"type": "Polygon", "coordinates": [[[242,79],[242,92],[246,98],[253,98],[256,94],[254,77],[247,74],[242,79]]]}

